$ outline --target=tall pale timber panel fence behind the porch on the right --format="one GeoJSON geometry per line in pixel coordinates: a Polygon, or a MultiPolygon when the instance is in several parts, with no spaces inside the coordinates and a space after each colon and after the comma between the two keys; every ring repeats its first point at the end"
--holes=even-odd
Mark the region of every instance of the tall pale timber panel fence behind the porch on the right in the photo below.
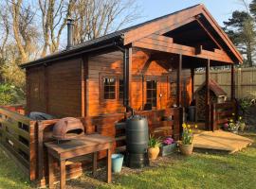
{"type": "MultiPolygon", "coordinates": [[[[210,70],[210,78],[215,80],[230,97],[230,70],[210,70]]],[[[196,72],[194,75],[194,90],[204,81],[205,72],[196,72]]],[[[256,68],[235,69],[235,97],[256,98],[256,68]]]]}

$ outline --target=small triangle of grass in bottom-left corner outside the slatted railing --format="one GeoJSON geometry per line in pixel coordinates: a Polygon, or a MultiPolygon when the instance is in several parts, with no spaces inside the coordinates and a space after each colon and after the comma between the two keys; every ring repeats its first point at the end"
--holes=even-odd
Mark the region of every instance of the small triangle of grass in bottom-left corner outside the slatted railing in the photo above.
{"type": "Polygon", "coordinates": [[[0,148],[0,188],[27,189],[29,181],[2,148],[0,148]]]}

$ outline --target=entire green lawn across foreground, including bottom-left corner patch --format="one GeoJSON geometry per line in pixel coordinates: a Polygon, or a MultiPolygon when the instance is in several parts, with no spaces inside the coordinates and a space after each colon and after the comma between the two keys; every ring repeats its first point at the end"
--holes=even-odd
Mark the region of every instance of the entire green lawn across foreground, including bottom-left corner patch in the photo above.
{"type": "MultiPolygon", "coordinates": [[[[256,140],[256,134],[247,136],[256,140]]],[[[27,188],[26,180],[2,151],[0,157],[0,188],[27,188]]],[[[256,145],[232,155],[194,153],[192,157],[185,158],[175,154],[159,159],[143,171],[125,168],[120,175],[114,176],[113,183],[109,185],[86,176],[67,183],[68,188],[74,189],[255,188],[256,145]]]]}

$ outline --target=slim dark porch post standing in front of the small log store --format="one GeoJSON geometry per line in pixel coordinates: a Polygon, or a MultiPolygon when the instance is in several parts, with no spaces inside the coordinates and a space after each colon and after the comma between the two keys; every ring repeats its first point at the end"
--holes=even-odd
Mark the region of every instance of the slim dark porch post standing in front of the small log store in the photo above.
{"type": "Polygon", "coordinates": [[[210,130],[210,60],[206,66],[206,129],[210,130]]]}

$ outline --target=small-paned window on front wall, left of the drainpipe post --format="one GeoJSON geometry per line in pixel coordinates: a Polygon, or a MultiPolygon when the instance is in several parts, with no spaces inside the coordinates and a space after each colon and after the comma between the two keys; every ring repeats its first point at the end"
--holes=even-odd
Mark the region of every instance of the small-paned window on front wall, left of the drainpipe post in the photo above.
{"type": "Polygon", "coordinates": [[[103,77],[103,99],[116,99],[116,77],[103,77]]]}

